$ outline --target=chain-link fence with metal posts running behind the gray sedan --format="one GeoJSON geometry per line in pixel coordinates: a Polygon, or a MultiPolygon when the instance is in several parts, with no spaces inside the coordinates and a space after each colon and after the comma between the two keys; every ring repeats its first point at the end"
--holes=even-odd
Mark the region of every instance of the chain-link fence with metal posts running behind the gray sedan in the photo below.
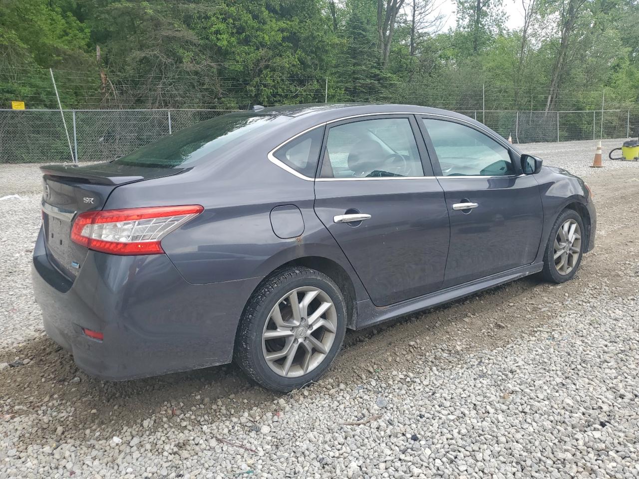
{"type": "MultiPolygon", "coordinates": [[[[164,135],[233,110],[64,110],[73,156],[102,162],[164,135]]],[[[463,110],[514,143],[636,136],[639,109],[463,110]]],[[[0,110],[0,163],[72,162],[59,110],[0,110]]]]}

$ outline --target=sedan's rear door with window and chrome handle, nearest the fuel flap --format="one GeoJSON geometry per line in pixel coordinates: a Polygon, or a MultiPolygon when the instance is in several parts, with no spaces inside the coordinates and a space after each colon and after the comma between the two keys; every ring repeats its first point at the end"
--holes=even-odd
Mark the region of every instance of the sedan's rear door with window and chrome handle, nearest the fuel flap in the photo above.
{"type": "Polygon", "coordinates": [[[376,306],[443,281],[449,218],[416,132],[413,115],[354,118],[325,132],[315,211],[376,306]]]}

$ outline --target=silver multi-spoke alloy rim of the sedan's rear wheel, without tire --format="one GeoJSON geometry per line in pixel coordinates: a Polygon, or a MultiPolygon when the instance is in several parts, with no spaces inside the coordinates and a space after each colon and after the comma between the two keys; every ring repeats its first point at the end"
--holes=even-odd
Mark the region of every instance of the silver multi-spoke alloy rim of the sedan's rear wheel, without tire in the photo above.
{"type": "Polygon", "coordinates": [[[273,306],[262,332],[268,367],[284,377],[304,376],[318,367],[335,341],[337,312],[325,291],[299,287],[273,306]]]}

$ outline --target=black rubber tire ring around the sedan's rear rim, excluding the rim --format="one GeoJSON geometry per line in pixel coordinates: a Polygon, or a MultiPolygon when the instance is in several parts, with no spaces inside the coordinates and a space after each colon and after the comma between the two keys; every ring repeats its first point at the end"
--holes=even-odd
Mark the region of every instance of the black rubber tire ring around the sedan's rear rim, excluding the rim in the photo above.
{"type": "MultiPolygon", "coordinates": [[[[288,392],[301,388],[305,384],[312,383],[330,367],[339,349],[341,348],[346,333],[346,303],[343,295],[335,283],[323,273],[309,268],[293,268],[273,275],[253,296],[256,301],[249,301],[247,310],[249,315],[244,315],[238,335],[240,347],[245,350],[237,351],[240,367],[262,386],[268,389],[288,392]],[[273,306],[287,293],[298,287],[311,286],[321,289],[330,296],[337,314],[337,331],[335,340],[328,351],[324,361],[314,370],[299,377],[282,377],[275,373],[262,353],[262,333],[268,314],[273,306]]],[[[238,346],[236,342],[236,347],[238,346]]]]}

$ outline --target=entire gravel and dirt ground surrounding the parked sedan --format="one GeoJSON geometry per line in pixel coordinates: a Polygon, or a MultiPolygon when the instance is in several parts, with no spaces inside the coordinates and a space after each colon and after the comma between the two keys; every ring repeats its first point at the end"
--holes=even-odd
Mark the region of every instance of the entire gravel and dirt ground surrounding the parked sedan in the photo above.
{"type": "MultiPolygon", "coordinates": [[[[604,152],[620,141],[604,141],[604,152]]],[[[597,247],[572,282],[524,278],[350,331],[289,395],[233,365],[109,383],[42,335],[29,285],[33,166],[0,167],[0,478],[639,476],[639,164],[529,144],[594,190],[597,247]]]]}

